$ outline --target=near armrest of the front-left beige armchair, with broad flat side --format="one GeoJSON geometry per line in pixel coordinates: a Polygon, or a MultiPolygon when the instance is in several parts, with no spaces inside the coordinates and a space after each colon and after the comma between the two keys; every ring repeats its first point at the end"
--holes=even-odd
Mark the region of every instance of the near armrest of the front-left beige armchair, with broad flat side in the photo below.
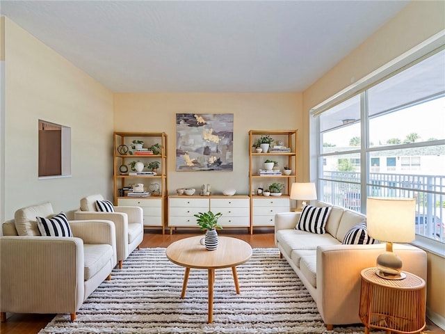
{"type": "Polygon", "coordinates": [[[75,313],[82,305],[81,239],[0,237],[0,253],[1,312],[75,313]]]}

